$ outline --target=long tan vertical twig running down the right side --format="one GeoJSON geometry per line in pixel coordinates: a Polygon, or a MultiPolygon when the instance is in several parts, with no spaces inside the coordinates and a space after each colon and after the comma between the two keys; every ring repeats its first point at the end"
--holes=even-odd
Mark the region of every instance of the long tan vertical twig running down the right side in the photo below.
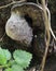
{"type": "Polygon", "coordinates": [[[43,71],[44,70],[44,66],[45,66],[45,60],[46,60],[46,56],[47,56],[47,50],[48,50],[48,46],[50,46],[50,39],[51,39],[51,35],[50,35],[50,21],[47,19],[47,13],[46,13],[46,9],[45,9],[45,0],[41,0],[42,2],[42,5],[43,5],[43,12],[44,12],[44,25],[45,25],[45,34],[47,35],[47,39],[46,39],[46,48],[45,48],[45,52],[44,52],[44,56],[43,56],[43,60],[42,60],[42,63],[41,63],[41,70],[40,71],[43,71]]]}

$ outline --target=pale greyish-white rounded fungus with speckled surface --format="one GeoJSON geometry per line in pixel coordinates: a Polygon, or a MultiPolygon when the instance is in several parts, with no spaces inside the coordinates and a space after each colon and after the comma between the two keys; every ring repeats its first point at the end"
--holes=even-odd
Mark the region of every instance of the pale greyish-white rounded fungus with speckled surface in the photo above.
{"type": "Polygon", "coordinates": [[[32,40],[32,28],[18,11],[11,13],[11,17],[5,25],[5,32],[12,39],[26,44],[27,46],[32,40]]]}

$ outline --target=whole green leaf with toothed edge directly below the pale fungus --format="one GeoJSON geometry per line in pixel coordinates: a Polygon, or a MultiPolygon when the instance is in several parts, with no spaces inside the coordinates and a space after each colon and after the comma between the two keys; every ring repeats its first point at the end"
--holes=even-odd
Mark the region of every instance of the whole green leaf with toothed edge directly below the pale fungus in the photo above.
{"type": "Polygon", "coordinates": [[[32,59],[32,55],[24,50],[15,50],[13,57],[23,68],[27,68],[32,59]]]}

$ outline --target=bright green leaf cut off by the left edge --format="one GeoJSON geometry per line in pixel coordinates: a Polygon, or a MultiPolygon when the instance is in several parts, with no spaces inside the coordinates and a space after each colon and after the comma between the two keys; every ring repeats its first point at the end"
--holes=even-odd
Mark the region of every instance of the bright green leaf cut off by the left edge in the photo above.
{"type": "Polygon", "coordinates": [[[5,64],[8,60],[11,59],[11,54],[8,49],[2,49],[0,47],[0,64],[5,64]]]}

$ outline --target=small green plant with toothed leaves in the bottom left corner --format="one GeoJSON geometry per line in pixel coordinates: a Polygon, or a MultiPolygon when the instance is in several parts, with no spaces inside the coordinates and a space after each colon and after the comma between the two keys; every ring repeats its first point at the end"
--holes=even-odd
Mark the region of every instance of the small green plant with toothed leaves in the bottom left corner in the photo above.
{"type": "Polygon", "coordinates": [[[3,71],[25,71],[29,67],[32,55],[25,50],[15,50],[12,54],[0,47],[0,69],[3,71]]]}

